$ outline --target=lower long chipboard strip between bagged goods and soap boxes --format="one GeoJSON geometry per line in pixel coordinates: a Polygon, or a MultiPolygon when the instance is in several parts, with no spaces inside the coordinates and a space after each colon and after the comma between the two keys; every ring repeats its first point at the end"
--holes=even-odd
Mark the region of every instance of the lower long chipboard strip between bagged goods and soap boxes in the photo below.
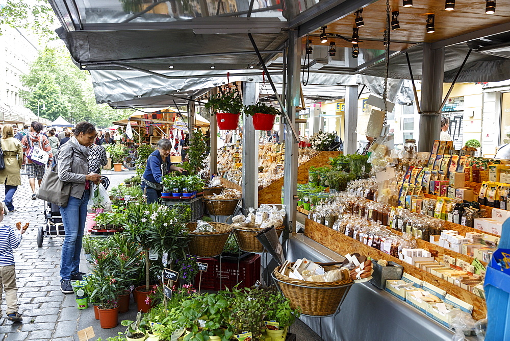
{"type": "Polygon", "coordinates": [[[473,305],[474,319],[480,320],[486,318],[487,316],[486,302],[480,297],[437,276],[424,272],[414,265],[406,263],[396,257],[390,256],[389,254],[386,254],[380,250],[369,247],[358,240],[346,236],[343,233],[334,231],[333,229],[330,229],[307,218],[305,220],[304,234],[307,237],[327,247],[328,249],[342,255],[346,253],[359,252],[374,259],[385,259],[387,261],[393,261],[399,265],[402,265],[404,272],[409,273],[410,275],[415,276],[416,278],[426,281],[432,285],[443,288],[450,295],[473,305]]]}

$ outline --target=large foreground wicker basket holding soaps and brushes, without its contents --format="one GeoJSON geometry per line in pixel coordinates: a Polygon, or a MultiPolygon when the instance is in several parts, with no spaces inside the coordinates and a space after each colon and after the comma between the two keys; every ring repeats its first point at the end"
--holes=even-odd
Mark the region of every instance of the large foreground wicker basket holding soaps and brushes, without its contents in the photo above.
{"type": "MultiPolygon", "coordinates": [[[[336,266],[324,266],[324,270],[339,269],[336,266]]],[[[290,301],[292,309],[301,308],[301,314],[310,316],[333,315],[347,296],[353,281],[348,278],[335,282],[309,282],[293,279],[278,272],[272,273],[273,280],[290,301]]]]}

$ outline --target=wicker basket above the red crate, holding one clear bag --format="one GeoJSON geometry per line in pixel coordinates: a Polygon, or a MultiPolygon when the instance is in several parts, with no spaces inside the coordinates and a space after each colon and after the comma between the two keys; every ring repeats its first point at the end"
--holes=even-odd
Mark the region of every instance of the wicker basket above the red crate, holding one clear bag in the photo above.
{"type": "Polygon", "coordinates": [[[226,240],[232,232],[232,226],[223,223],[209,223],[218,232],[193,232],[196,223],[188,223],[186,226],[191,237],[188,243],[190,254],[198,257],[215,257],[221,254],[226,240]]]}

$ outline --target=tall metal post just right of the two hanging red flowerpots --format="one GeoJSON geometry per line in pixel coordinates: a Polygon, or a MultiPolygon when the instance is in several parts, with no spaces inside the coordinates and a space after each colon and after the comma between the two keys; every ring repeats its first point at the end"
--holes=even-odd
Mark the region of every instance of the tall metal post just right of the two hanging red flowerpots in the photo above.
{"type": "Polygon", "coordinates": [[[300,40],[296,31],[289,32],[289,45],[287,51],[287,96],[286,107],[288,117],[285,125],[285,162],[284,162],[284,204],[287,229],[284,231],[284,240],[289,238],[289,232],[296,231],[296,204],[297,204],[297,159],[298,145],[292,138],[295,129],[296,107],[300,102],[300,68],[301,68],[300,40]]]}

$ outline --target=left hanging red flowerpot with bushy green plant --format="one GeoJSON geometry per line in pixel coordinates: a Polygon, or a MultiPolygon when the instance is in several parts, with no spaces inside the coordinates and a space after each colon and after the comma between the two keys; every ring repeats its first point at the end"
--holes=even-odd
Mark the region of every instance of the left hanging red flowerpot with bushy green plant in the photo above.
{"type": "Polygon", "coordinates": [[[204,105],[206,109],[213,109],[218,122],[218,129],[237,129],[239,115],[244,111],[244,105],[239,91],[225,91],[212,95],[204,105]]]}

